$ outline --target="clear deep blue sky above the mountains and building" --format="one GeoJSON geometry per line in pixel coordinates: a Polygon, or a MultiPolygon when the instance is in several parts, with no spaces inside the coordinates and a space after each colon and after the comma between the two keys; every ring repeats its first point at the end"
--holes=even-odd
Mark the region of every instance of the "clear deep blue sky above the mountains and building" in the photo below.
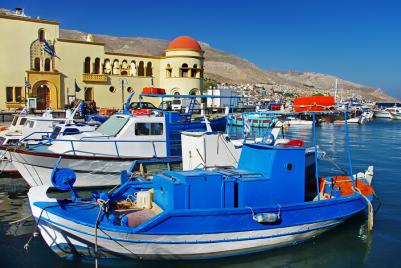
{"type": "Polygon", "coordinates": [[[189,35],[266,70],[327,73],[401,99],[401,1],[0,0],[0,7],[95,34],[189,35]]]}

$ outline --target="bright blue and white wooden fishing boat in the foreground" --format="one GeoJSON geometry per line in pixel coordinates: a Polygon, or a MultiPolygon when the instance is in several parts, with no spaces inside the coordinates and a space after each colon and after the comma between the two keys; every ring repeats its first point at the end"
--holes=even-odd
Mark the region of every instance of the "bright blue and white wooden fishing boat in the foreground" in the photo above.
{"type": "Polygon", "coordinates": [[[72,197],[50,198],[45,186],[28,197],[45,242],[66,259],[221,258],[294,245],[363,211],[371,228],[373,169],[349,168],[321,177],[317,154],[315,172],[306,170],[304,146],[244,144],[238,168],[164,171],[152,181],[122,172],[120,187],[88,199],[73,188],[74,173],[56,167],[53,185],[72,197]]]}

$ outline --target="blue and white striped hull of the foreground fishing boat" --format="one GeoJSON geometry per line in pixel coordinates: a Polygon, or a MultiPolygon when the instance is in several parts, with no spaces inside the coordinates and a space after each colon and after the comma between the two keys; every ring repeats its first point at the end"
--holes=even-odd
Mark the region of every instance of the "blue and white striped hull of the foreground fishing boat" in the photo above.
{"type": "MultiPolygon", "coordinates": [[[[283,206],[282,221],[273,224],[253,221],[249,209],[221,213],[194,210],[189,214],[173,211],[125,232],[100,226],[96,242],[95,219],[92,224],[80,223],[53,213],[51,206],[57,206],[54,201],[35,202],[43,200],[37,188],[41,187],[31,188],[28,196],[39,231],[49,247],[66,259],[94,258],[95,243],[99,258],[188,260],[256,253],[314,238],[367,207],[356,194],[338,200],[305,202],[283,206]],[[166,225],[168,228],[163,228],[166,225]]],[[[98,211],[98,206],[93,204],[92,209],[98,211]]]]}

